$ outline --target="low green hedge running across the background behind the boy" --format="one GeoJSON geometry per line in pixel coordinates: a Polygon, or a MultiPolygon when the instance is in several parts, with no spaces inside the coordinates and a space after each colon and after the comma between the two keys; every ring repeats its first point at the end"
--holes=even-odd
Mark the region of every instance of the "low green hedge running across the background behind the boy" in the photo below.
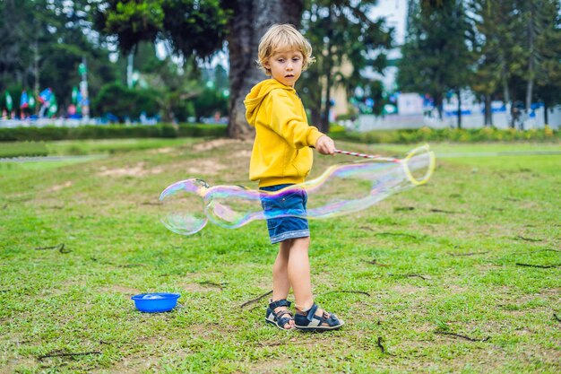
{"type": "MultiPolygon", "coordinates": [[[[124,139],[124,138],[179,138],[179,137],[225,137],[224,125],[182,124],[172,126],[78,126],[78,127],[14,127],[0,128],[0,158],[45,156],[45,142],[56,140],[124,139]]],[[[410,130],[378,130],[367,133],[347,131],[333,125],[330,135],[335,140],[365,144],[419,144],[436,142],[560,142],[561,134],[549,127],[519,131],[497,130],[492,127],[480,129],[432,129],[422,127],[410,130]]]]}

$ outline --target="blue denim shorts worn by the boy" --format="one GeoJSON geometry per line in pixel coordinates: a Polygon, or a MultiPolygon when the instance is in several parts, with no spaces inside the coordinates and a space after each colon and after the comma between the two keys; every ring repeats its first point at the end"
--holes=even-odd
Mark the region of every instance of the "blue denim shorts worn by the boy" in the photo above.
{"type": "MultiPolygon", "coordinates": [[[[278,191],[288,186],[292,185],[261,187],[261,190],[278,191]]],[[[306,203],[307,194],[301,188],[290,191],[288,195],[261,196],[261,205],[267,219],[271,244],[287,239],[307,238],[310,236],[306,218],[300,218],[306,216],[306,203]],[[288,216],[279,217],[282,214],[287,214],[288,216]],[[294,217],[293,215],[299,215],[300,217],[294,217]]]]}

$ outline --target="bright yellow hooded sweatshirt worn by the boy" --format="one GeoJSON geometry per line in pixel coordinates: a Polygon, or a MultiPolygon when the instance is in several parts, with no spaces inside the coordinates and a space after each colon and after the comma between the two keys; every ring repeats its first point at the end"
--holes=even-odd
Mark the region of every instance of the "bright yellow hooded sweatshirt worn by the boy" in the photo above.
{"type": "Polygon", "coordinates": [[[254,86],[244,104],[256,132],[249,178],[259,180],[259,187],[304,182],[314,162],[309,147],[323,134],[307,124],[296,91],[267,79],[254,86]]]}

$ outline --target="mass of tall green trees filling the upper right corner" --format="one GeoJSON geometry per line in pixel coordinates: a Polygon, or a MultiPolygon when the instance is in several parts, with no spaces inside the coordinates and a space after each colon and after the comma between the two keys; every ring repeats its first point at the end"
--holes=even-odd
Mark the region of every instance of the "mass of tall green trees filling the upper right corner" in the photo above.
{"type": "Polygon", "coordinates": [[[559,103],[560,14],[558,0],[412,0],[400,88],[440,108],[444,95],[469,87],[486,103],[487,125],[491,100],[526,111],[559,103]]]}

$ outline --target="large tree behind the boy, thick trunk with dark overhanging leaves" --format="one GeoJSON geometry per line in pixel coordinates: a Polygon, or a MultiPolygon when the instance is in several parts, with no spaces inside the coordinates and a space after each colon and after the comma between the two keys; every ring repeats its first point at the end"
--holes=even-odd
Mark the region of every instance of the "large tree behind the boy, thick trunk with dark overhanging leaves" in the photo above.
{"type": "Polygon", "coordinates": [[[243,138],[253,136],[243,100],[263,79],[254,68],[259,39],[273,23],[298,24],[302,6],[301,0],[108,0],[98,4],[95,18],[97,29],[117,36],[125,54],[141,40],[167,40],[176,54],[205,59],[228,41],[229,135],[243,138]]]}

